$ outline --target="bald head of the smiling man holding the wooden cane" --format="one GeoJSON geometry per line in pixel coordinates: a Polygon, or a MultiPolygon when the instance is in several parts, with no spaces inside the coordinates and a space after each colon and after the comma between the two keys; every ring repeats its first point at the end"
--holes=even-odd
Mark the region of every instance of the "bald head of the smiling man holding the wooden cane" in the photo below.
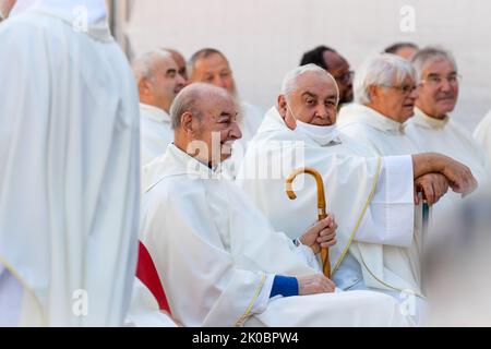
{"type": "Polygon", "coordinates": [[[170,109],[175,145],[203,164],[215,166],[231,155],[242,137],[238,108],[224,88],[196,83],[184,87],[170,109]]]}

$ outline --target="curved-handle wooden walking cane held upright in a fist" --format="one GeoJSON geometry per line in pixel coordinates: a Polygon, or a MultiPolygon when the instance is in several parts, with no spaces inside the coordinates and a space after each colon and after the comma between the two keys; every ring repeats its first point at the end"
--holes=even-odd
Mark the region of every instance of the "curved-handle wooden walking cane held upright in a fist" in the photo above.
{"type": "MultiPolygon", "coordinates": [[[[311,174],[315,178],[315,182],[318,183],[318,216],[319,221],[325,219],[327,214],[325,212],[325,193],[324,193],[324,181],[322,180],[321,173],[319,173],[313,168],[299,168],[295,170],[286,180],[286,192],[290,200],[296,200],[297,195],[294,192],[294,181],[297,176],[301,173],[311,174]]],[[[331,261],[330,261],[330,250],[321,249],[321,257],[322,257],[322,270],[326,277],[331,277],[331,261]]]]}

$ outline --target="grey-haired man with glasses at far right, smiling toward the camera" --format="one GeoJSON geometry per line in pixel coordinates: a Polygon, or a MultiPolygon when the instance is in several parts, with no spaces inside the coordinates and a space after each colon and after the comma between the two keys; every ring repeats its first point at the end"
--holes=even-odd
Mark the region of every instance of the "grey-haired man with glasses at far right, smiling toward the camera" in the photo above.
{"type": "MultiPolygon", "coordinates": [[[[483,149],[464,125],[448,116],[459,93],[460,75],[454,57],[441,48],[427,47],[412,58],[412,64],[419,86],[415,117],[405,125],[407,135],[419,152],[441,153],[468,166],[479,186],[484,186],[491,171],[483,149]]],[[[456,194],[446,195],[433,210],[433,217],[436,219],[457,202],[456,194]]]]}

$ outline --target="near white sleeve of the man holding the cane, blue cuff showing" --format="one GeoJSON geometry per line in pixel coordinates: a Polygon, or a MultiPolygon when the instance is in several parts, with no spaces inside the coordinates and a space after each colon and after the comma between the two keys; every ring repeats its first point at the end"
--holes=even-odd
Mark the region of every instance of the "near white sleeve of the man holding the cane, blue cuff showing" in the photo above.
{"type": "MultiPolygon", "coordinates": [[[[143,217],[143,240],[165,287],[172,315],[184,326],[238,326],[264,309],[267,275],[239,269],[224,246],[205,190],[156,188],[143,217]],[[163,200],[164,198],[164,200],[163,200]],[[261,304],[260,304],[261,303],[261,304]]],[[[146,205],[145,205],[146,206],[146,205]]],[[[266,299],[267,300],[267,299],[266,299]]]]}

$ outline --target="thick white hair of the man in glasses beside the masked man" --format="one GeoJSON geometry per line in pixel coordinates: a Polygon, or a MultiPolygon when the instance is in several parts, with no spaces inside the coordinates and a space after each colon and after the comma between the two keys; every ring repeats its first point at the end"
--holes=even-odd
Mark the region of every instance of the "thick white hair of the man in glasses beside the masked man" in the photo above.
{"type": "Polygon", "coordinates": [[[392,53],[372,57],[355,76],[355,101],[368,105],[371,101],[370,86],[398,86],[408,76],[417,81],[416,70],[408,60],[392,53]]]}

